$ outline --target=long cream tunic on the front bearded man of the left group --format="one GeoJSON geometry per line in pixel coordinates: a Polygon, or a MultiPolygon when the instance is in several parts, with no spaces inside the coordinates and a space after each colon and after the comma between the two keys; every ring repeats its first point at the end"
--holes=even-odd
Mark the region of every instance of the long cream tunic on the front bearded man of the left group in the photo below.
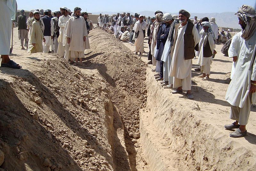
{"type": "Polygon", "coordinates": [[[67,24],[66,37],[70,38],[69,51],[81,52],[85,49],[90,49],[88,32],[84,18],[81,16],[78,19],[71,17],[67,24]],[[84,36],[86,37],[85,41],[84,36]]]}

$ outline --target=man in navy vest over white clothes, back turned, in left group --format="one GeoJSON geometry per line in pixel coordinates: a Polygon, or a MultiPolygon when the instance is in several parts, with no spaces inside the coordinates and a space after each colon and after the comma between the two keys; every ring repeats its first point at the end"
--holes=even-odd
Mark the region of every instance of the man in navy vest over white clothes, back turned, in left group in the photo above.
{"type": "Polygon", "coordinates": [[[52,45],[53,33],[54,33],[54,26],[53,20],[48,16],[48,10],[44,10],[44,17],[42,20],[44,22],[44,38],[45,42],[43,42],[43,52],[49,53],[50,46],[52,45]]]}

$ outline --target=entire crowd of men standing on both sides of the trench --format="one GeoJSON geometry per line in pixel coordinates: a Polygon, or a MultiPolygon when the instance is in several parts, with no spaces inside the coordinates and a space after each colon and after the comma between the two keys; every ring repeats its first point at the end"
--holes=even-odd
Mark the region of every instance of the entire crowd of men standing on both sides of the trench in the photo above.
{"type": "MultiPolygon", "coordinates": [[[[0,18],[0,22],[5,23],[0,25],[2,67],[22,67],[9,58],[11,19],[15,20],[15,12],[15,1],[12,4],[0,1],[0,15],[6,16],[0,18]]],[[[81,13],[79,7],[72,14],[68,8],[61,7],[60,11],[54,12],[54,16],[49,9],[31,10],[27,19],[24,10],[20,12],[18,30],[21,49],[25,49],[25,46],[29,53],[48,53],[51,47],[52,51],[70,60],[70,63],[74,63],[75,59],[76,65],[82,63],[84,50],[90,49],[89,30],[103,29],[120,40],[134,42],[135,54],[140,52],[139,55],[144,52],[143,43],[147,32],[148,63],[156,66],[152,69],[156,72],[156,80],[161,81],[163,88],[173,89],[173,94],[185,90],[188,99],[194,98],[191,92],[192,59],[198,56],[197,64],[200,67],[196,70],[202,73],[199,77],[209,80],[210,65],[216,54],[215,44],[219,35],[223,35],[223,31],[219,34],[215,18],[197,20],[194,17],[192,22],[186,10],[180,10],[178,16],[156,11],[155,16],[147,19],[137,13],[134,16],[130,13],[117,13],[113,18],[100,14],[95,27],[91,21],[90,24],[87,22],[88,13],[81,13]]],[[[242,137],[247,134],[245,126],[250,106],[256,103],[256,12],[253,7],[243,5],[235,15],[242,31],[232,38],[228,49],[233,64],[226,100],[231,105],[230,119],[236,121],[225,125],[225,128],[236,128],[230,136],[242,137]]],[[[229,31],[225,37],[231,38],[229,31]]]]}

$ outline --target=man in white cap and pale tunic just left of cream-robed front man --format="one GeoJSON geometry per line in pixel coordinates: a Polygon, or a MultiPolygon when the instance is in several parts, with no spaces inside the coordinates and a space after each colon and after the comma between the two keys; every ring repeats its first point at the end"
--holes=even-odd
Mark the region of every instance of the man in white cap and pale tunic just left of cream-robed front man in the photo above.
{"type": "Polygon", "coordinates": [[[67,7],[62,7],[60,8],[60,12],[62,14],[62,16],[60,16],[59,18],[59,27],[60,27],[60,35],[58,38],[58,51],[57,53],[64,57],[64,53],[65,53],[65,47],[63,44],[65,44],[65,26],[66,26],[66,22],[68,21],[68,19],[70,18],[70,15],[68,15],[68,8],[67,7]]]}

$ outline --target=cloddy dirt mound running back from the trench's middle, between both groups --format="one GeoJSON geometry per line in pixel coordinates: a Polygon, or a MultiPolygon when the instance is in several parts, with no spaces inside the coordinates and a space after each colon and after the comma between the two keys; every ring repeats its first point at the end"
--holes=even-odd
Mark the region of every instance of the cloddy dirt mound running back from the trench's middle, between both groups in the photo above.
{"type": "MultiPolygon", "coordinates": [[[[107,84],[111,100],[124,124],[126,148],[134,169],[136,152],[133,144],[138,147],[136,139],[140,137],[139,109],[145,107],[147,101],[147,65],[107,32],[90,31],[90,45],[91,50],[86,51],[85,68],[97,69],[107,84]]],[[[117,159],[113,154],[114,161],[118,161],[118,151],[116,153],[117,159]]]]}

